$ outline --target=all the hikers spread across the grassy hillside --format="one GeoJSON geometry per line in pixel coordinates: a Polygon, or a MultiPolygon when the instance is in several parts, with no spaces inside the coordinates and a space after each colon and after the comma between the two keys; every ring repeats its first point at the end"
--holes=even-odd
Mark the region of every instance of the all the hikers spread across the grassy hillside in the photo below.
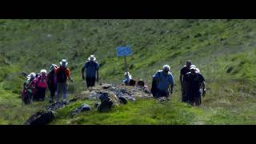
{"type": "MultiPolygon", "coordinates": [[[[39,74],[31,73],[27,75],[22,93],[23,102],[30,104],[32,101],[44,101],[47,88],[50,90],[50,103],[54,102],[56,92],[56,101],[59,101],[62,94],[62,101],[66,102],[67,80],[73,82],[67,65],[68,62],[66,62],[66,59],[62,59],[59,66],[55,64],[50,66],[48,74],[46,70],[41,70],[39,74]]],[[[84,66],[82,66],[81,71],[82,79],[86,81],[88,88],[95,86],[95,82],[98,82],[98,70],[99,65],[98,62],[96,62],[96,58],[94,55],[90,55],[84,66]]],[[[146,82],[142,79],[139,79],[136,83],[128,71],[124,76],[125,78],[122,81],[123,85],[138,86],[142,88],[142,90],[151,92],[154,98],[166,97],[170,99],[170,95],[173,94],[174,77],[170,72],[169,65],[163,66],[162,70],[158,70],[154,74],[151,90],[149,90],[148,86],[146,86],[146,82]]],[[[205,79],[200,73],[200,70],[192,65],[190,60],[188,60],[186,65],[180,70],[179,80],[181,82],[182,102],[189,103],[192,106],[199,106],[201,104],[201,96],[205,96],[206,94],[205,79]]]]}

